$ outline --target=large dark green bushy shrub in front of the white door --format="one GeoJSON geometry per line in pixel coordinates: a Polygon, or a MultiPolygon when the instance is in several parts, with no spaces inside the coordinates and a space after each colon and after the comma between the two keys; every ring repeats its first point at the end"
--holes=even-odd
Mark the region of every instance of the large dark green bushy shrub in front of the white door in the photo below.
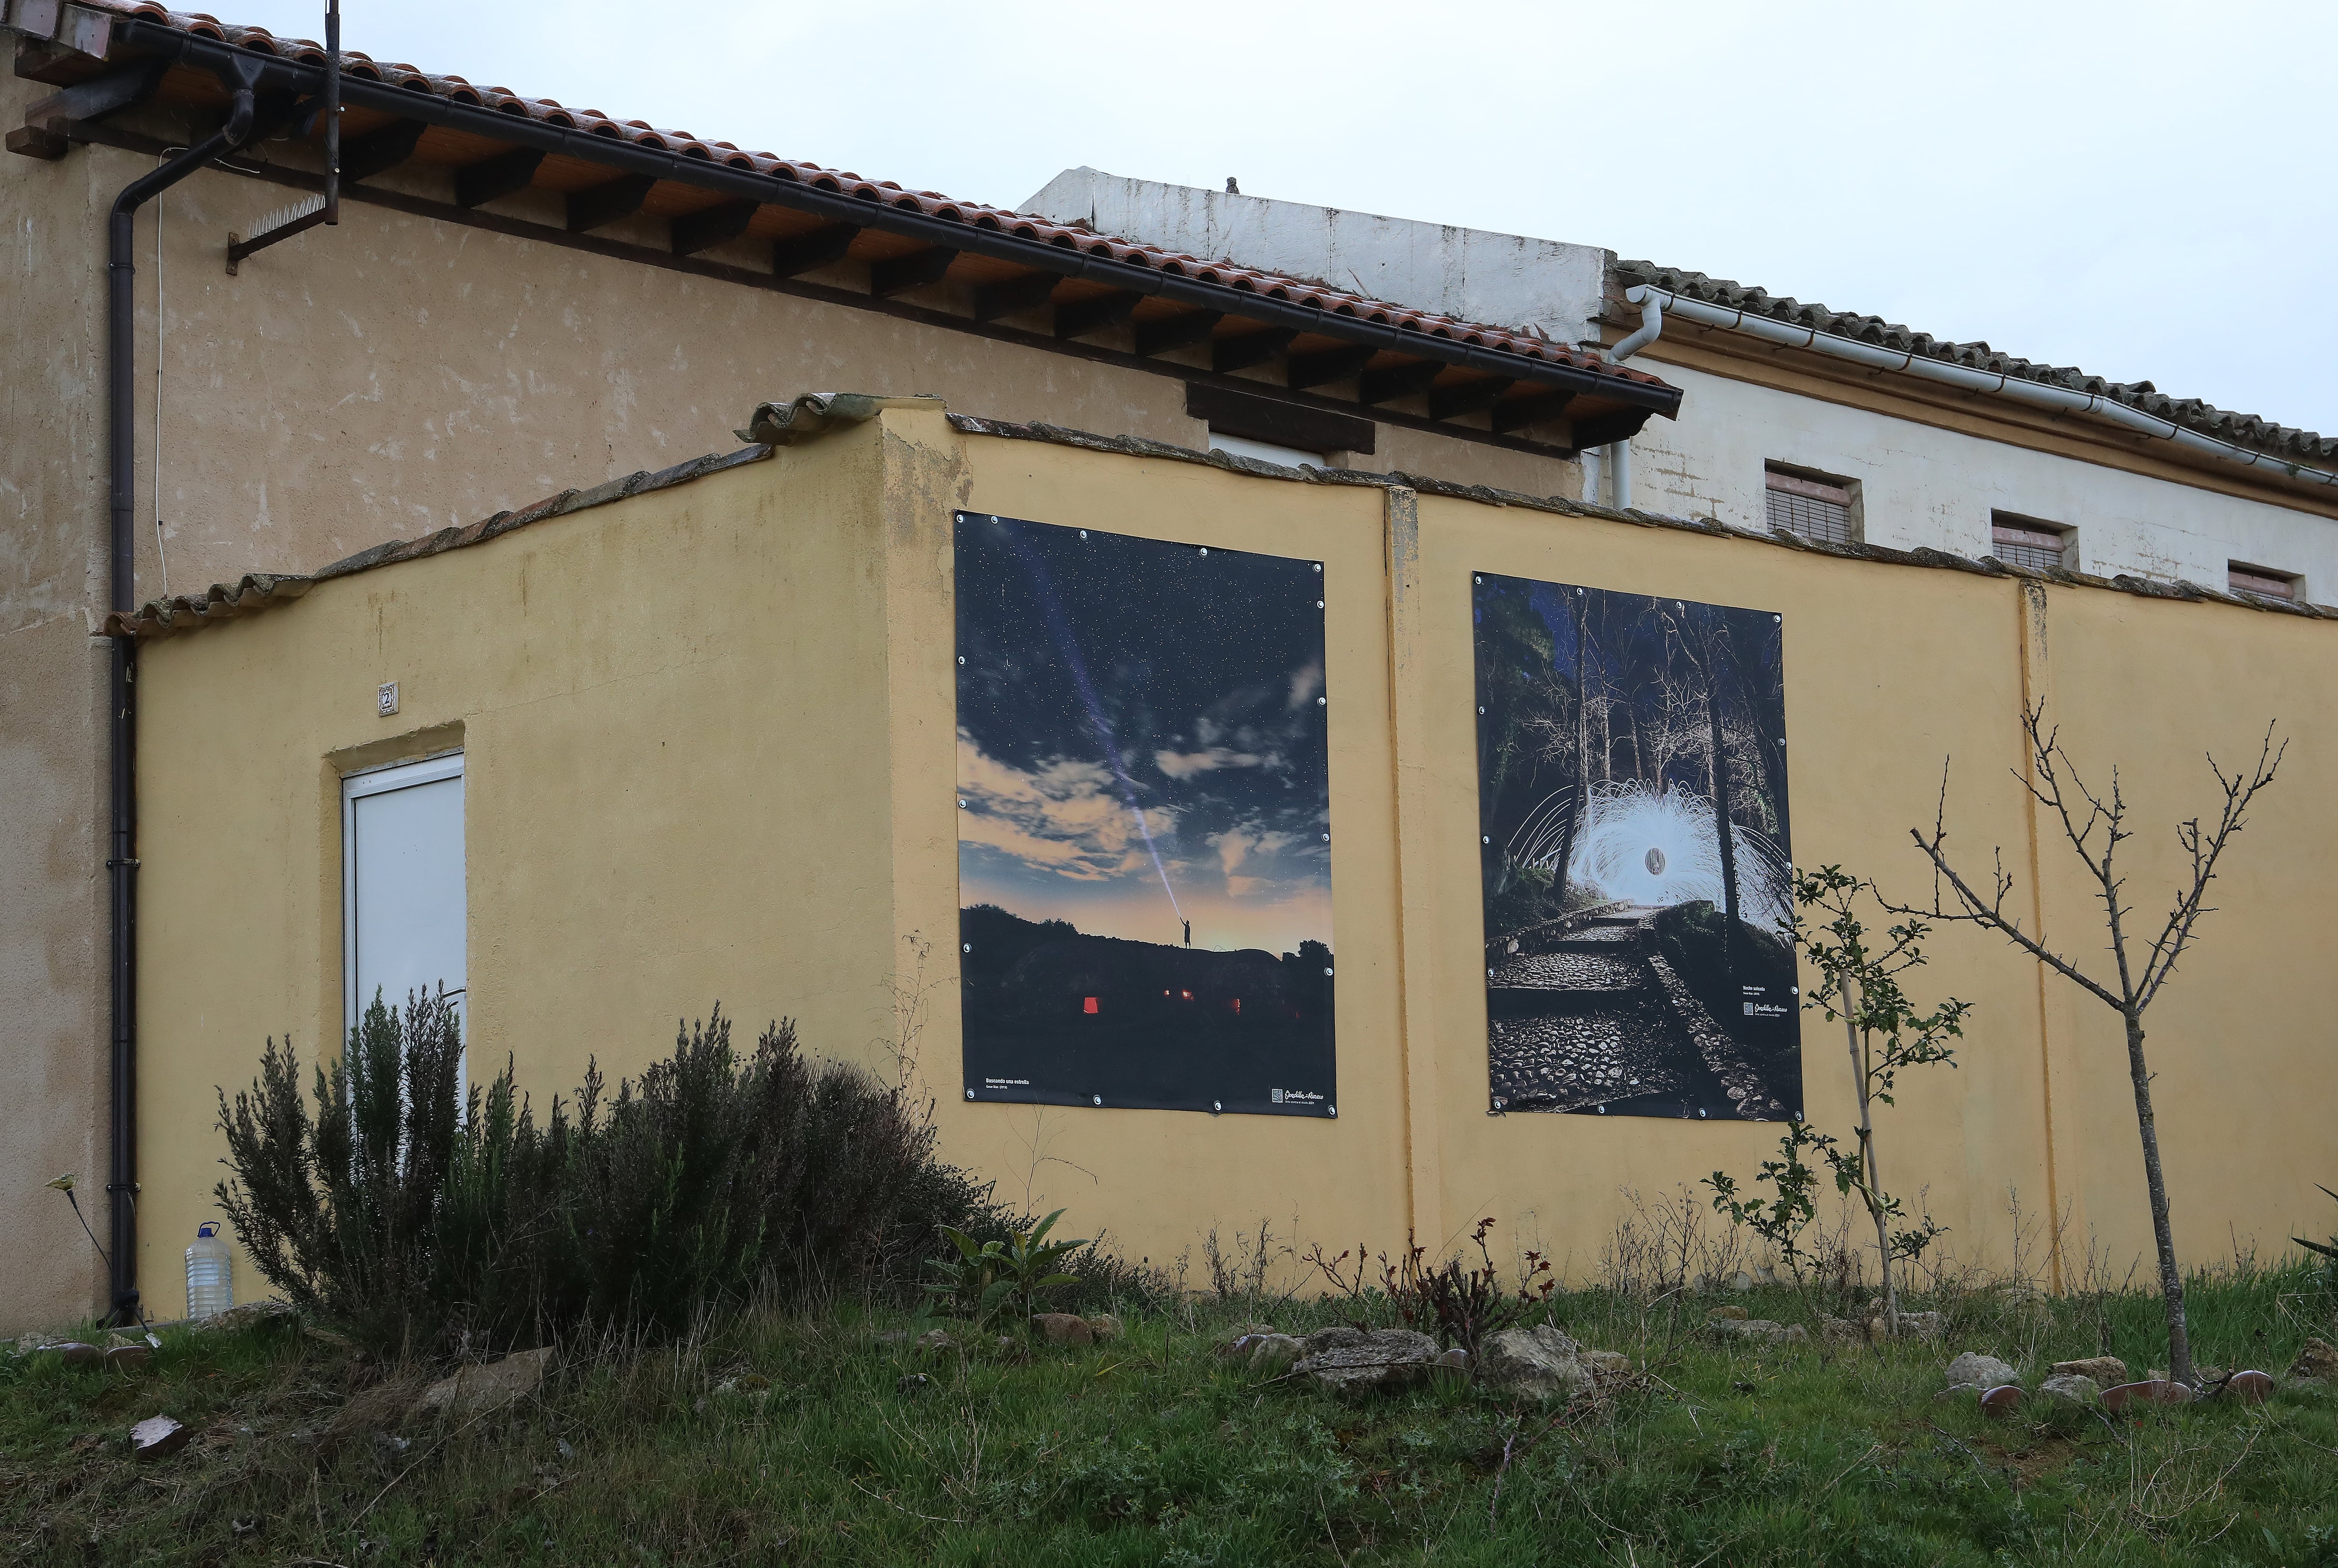
{"type": "Polygon", "coordinates": [[[746,1059],[729,1031],[715,1007],[615,1094],[592,1063],[538,1124],[510,1063],[461,1091],[444,998],[376,995],[313,1119],[290,1042],[220,1094],[220,1206],[290,1302],[416,1351],[676,1334],[758,1288],[909,1292],[942,1224],[1001,1224],[902,1089],[807,1061],[788,1021],[746,1059]]]}

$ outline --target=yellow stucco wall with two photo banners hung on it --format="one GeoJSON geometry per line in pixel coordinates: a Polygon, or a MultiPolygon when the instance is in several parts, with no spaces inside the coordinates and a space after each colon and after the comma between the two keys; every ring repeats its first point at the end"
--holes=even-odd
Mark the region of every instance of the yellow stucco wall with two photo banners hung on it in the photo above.
{"type": "MultiPolygon", "coordinates": [[[[2221,605],[2025,589],[1365,484],[966,437],[893,407],[694,484],[381,568],[145,652],[140,988],[143,1257],[171,1313],[178,1250],[210,1210],[213,1084],[260,1040],[339,1026],[337,776],[461,727],[475,1075],[505,1052],[538,1098],[587,1054],[638,1070],[713,998],[748,1028],[788,1012],[825,1054],[884,1066],[909,1040],[949,1157],[1012,1201],[1068,1206],[1132,1257],[1209,1227],[1396,1248],[1478,1215],[1590,1269],[1627,1213],[1716,1166],[1758,1124],[1487,1115],[1471,570],[1784,615],[1793,844],[1919,897],[1908,827],[1948,820],[2015,900],[2093,960],[2067,851],[2006,769],[2046,696],[2081,759],[2123,764],[2149,911],[2170,825],[2202,809],[2200,750],[2294,736],[2216,883],[2198,956],[2153,1014],[2184,1250],[2280,1248],[2329,1180],[2333,631],[2221,605]],[[968,507],[1326,566],[1340,1117],[1204,1117],[956,1098],[952,512],[968,507]],[[400,680],[381,720],[374,687],[400,680]],[[400,741],[404,736],[404,741],[400,741]]],[[[2093,1241],[2149,1246],[2116,1019],[1976,932],[1917,986],[1976,1005],[1962,1070],[1887,1110],[1887,1175],[1927,1189],[1966,1257],[2013,1260],[2008,1189],[2093,1241]],[[2048,1110],[2050,1108],[2050,1110],[2048,1110]]],[[[1845,1126],[1840,1045],[1805,1021],[1807,1110],[1845,1126]]],[[[2032,1234],[2029,1262],[2043,1264],[2032,1234]]],[[[255,1288],[250,1274],[245,1290],[255,1288]]]]}

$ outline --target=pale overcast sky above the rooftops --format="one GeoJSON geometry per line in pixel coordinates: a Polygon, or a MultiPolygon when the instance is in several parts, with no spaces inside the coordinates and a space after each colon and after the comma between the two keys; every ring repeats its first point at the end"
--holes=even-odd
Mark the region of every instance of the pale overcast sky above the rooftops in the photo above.
{"type": "Polygon", "coordinates": [[[376,58],[912,189],[1237,175],[2338,432],[2326,0],[344,7],[376,58]]]}

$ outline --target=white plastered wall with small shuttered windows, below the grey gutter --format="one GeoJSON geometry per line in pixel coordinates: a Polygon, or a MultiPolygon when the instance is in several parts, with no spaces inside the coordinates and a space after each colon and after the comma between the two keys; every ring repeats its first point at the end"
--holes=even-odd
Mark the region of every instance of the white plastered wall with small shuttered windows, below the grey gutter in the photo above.
{"type": "Polygon", "coordinates": [[[1679,386],[1681,418],[1632,439],[1632,505],[1761,526],[1763,463],[1856,479],[1866,540],[1894,549],[1990,554],[1990,512],[2078,530],[2076,568],[2221,589],[2247,561],[2305,577],[2305,598],[2338,598],[2338,521],[2237,495],[2130,474],[2027,446],[1870,414],[1798,393],[1634,360],[1679,386]]]}

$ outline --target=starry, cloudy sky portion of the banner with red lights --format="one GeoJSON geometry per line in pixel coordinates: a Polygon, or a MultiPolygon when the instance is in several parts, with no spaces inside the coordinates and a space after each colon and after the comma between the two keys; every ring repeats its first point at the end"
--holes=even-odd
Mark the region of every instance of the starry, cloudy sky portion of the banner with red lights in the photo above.
{"type": "Polygon", "coordinates": [[[1330,944],[1314,563],[980,514],[956,537],[959,902],[1330,944]]]}

